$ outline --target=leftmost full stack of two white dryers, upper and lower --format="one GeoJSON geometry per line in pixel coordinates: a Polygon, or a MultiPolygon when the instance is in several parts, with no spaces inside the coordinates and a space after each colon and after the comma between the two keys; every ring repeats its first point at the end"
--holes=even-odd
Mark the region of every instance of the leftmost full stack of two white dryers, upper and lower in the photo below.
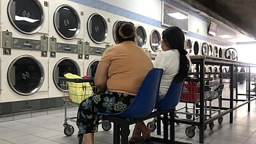
{"type": "Polygon", "coordinates": [[[2,114],[47,107],[48,1],[1,5],[2,114]],[[38,100],[39,99],[39,100],[38,100]],[[4,112],[3,112],[4,111],[4,112]]]}

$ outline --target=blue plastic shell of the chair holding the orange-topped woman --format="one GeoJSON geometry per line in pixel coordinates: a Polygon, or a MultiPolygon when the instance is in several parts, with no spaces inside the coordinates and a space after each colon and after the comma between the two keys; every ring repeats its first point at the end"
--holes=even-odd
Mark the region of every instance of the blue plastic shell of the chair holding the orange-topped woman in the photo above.
{"type": "Polygon", "coordinates": [[[116,116],[129,119],[148,116],[156,105],[162,74],[163,69],[161,68],[153,68],[149,71],[135,96],[135,100],[125,111],[116,114],[116,116]]]}

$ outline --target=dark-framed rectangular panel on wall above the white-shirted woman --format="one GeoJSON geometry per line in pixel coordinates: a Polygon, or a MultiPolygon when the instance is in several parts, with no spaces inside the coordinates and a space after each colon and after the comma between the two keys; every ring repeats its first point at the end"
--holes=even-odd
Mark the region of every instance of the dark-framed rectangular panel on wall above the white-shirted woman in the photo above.
{"type": "Polygon", "coordinates": [[[188,32],[188,18],[187,12],[183,12],[176,7],[162,1],[161,25],[177,26],[184,32],[188,32]]]}

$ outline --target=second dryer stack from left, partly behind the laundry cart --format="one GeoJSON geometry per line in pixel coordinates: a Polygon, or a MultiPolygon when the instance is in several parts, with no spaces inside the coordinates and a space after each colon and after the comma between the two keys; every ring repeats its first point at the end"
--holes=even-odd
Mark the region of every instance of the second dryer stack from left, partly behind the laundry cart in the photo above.
{"type": "Polygon", "coordinates": [[[49,105],[63,105],[65,73],[83,74],[83,7],[72,1],[49,1],[49,105]]]}

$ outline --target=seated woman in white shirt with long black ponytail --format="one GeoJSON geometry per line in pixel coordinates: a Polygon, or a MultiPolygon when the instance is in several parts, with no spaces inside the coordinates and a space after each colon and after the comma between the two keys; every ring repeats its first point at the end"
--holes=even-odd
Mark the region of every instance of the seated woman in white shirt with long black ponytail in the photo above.
{"type": "MultiPolygon", "coordinates": [[[[188,52],[184,49],[185,37],[183,31],[178,27],[169,27],[162,33],[161,49],[162,52],[156,57],[154,62],[155,68],[163,68],[164,73],[161,79],[161,84],[159,88],[159,98],[158,101],[164,98],[167,94],[170,84],[172,81],[183,81],[188,76],[188,70],[191,68],[191,60],[188,57],[188,52]]],[[[152,143],[150,140],[150,132],[148,135],[141,135],[142,126],[145,124],[140,124],[140,127],[136,127],[132,133],[132,139],[130,143],[140,143],[138,140],[141,139],[143,143],[152,143]]]]}

